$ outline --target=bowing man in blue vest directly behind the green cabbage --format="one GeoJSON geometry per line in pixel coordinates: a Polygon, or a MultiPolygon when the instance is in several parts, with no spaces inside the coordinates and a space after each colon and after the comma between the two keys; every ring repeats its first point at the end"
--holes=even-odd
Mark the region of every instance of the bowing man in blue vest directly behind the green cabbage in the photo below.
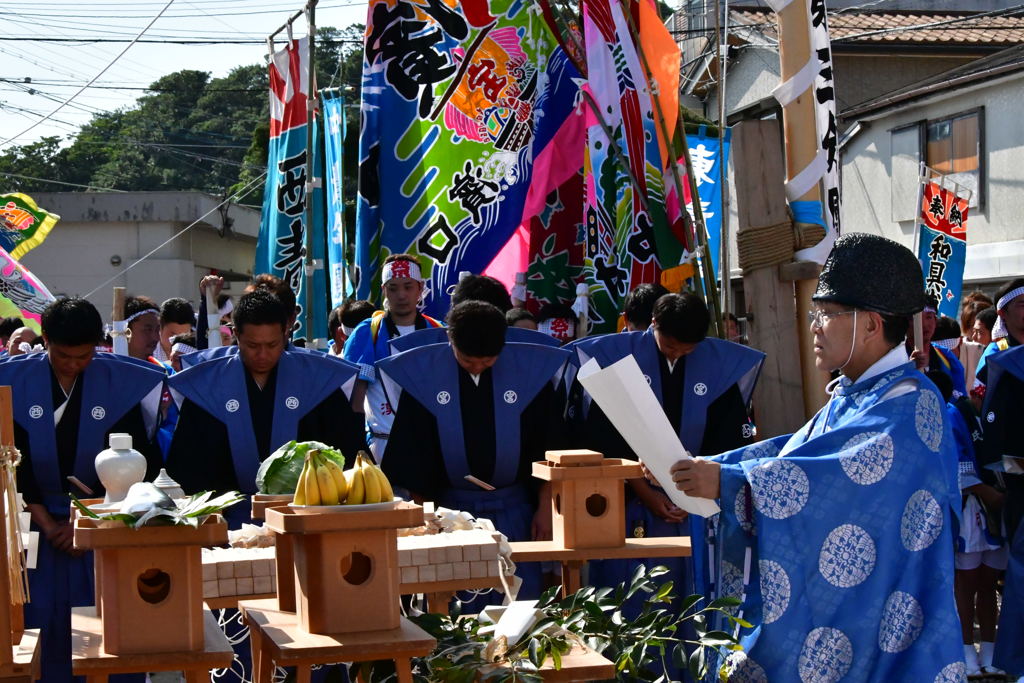
{"type": "MultiPolygon", "coordinates": [[[[167,468],[186,493],[255,493],[260,462],[292,439],[323,441],[349,462],[366,447],[350,404],[358,369],[286,349],[290,314],[266,290],[243,295],[232,313],[238,353],[170,378],[181,412],[167,468]]],[[[227,510],[233,526],[245,521],[244,507],[227,510]]]]}

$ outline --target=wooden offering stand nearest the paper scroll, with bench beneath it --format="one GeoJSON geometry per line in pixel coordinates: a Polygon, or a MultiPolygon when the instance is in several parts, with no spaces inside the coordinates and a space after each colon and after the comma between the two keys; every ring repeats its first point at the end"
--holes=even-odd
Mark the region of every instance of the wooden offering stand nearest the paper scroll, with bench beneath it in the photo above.
{"type": "Polygon", "coordinates": [[[587,560],[686,557],[689,537],[626,538],[626,479],[643,476],[640,463],[593,451],[549,451],[534,476],[551,482],[551,541],[509,544],[515,562],[560,562],[562,593],[580,590],[587,560]]]}

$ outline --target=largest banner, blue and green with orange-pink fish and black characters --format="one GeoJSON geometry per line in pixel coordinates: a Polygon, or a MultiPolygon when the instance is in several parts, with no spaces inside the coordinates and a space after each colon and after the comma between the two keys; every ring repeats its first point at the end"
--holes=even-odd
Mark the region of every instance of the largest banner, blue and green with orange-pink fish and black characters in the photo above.
{"type": "Polygon", "coordinates": [[[378,299],[384,258],[413,253],[425,310],[443,315],[459,272],[483,271],[536,215],[534,163],[579,74],[521,0],[371,0],[362,69],[356,296],[378,299]]]}

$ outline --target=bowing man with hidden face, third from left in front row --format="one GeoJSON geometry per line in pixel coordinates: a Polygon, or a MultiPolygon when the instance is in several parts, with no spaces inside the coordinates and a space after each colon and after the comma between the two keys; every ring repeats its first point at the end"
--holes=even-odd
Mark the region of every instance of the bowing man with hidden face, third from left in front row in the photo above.
{"type": "MultiPolygon", "coordinates": [[[[532,479],[531,463],[565,445],[568,353],[506,343],[505,315],[482,301],[455,306],[447,324],[451,344],[377,365],[395,412],[384,473],[418,500],[490,519],[510,541],[549,538],[550,498],[532,479]]],[[[521,595],[537,597],[539,567],[520,565],[516,573],[521,595]]]]}

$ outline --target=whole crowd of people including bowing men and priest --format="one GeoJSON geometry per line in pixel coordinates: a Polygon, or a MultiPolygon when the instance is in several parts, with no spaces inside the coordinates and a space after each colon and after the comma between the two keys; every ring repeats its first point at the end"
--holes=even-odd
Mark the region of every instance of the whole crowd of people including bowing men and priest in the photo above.
{"type": "MultiPolygon", "coordinates": [[[[1013,431],[1024,280],[994,299],[967,295],[953,322],[907,249],[840,238],[808,322],[817,366],[836,378],[827,402],[796,433],[761,438],[751,401],[765,355],[736,343],[734,317],[729,340],[709,337],[700,297],[641,285],[621,334],[588,337],[569,306],[530,312],[485,275],[460,281],[444,319],[425,315],[421,268],[390,255],[381,307],[330,311],[325,352],[293,343],[295,295],[266,274],[233,301],[204,279],[198,311],[128,297],[127,355],[104,352],[112,333],[84,299],[53,303],[40,339],[0,322],[18,487],[45,539],[26,610],[43,632],[44,680],[71,680],[70,609],[92,602],[68,500],[103,494],[92,463],[111,433],[132,435],[148,478],[166,468],[186,493],[255,493],[260,462],[292,439],[349,463],[368,450],[403,497],[486,517],[511,541],[547,539],[550,494],[532,462],[559,449],[644,456],[577,378],[591,359],[628,355],[698,458],[671,481],[628,482],[627,532],[690,536],[692,558],[648,563],[669,564],[677,593],[743,599],[754,628],[729,656],[731,680],[1024,680],[1024,439],[1013,431]],[[218,318],[227,343],[207,348],[218,318]],[[665,486],[722,512],[688,516],[665,486]]],[[[249,521],[245,506],[228,517],[249,521]]],[[[588,581],[611,586],[634,566],[595,561],[588,581]]],[[[542,569],[519,565],[520,598],[537,597],[542,569]]]]}

